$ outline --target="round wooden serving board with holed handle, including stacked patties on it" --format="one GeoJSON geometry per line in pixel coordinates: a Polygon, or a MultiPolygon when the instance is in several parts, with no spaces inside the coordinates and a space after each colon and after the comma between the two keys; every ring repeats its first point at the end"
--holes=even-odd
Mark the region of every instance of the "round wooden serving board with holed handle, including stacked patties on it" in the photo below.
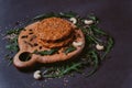
{"type": "Polygon", "coordinates": [[[55,63],[76,57],[85,47],[85,36],[80,29],[75,28],[72,22],[61,18],[47,18],[25,26],[18,38],[20,51],[13,64],[18,68],[25,68],[36,63],[55,63]],[[23,54],[31,55],[31,58],[21,61],[23,54]]]}

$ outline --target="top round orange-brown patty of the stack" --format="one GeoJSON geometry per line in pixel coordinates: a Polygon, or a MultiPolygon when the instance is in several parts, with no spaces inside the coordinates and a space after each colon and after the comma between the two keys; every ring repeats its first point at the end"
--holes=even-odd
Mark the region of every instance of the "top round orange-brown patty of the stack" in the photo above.
{"type": "Polygon", "coordinates": [[[38,23],[36,29],[38,38],[55,42],[67,37],[73,32],[72,23],[61,18],[48,18],[38,23]]]}

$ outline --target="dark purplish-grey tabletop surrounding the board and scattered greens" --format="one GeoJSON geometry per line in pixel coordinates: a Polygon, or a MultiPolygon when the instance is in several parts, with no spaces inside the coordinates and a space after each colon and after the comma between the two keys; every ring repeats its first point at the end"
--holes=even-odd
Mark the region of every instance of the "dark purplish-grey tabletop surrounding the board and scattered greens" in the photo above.
{"type": "Polygon", "coordinates": [[[131,32],[132,0],[0,0],[0,88],[132,88],[131,32]],[[68,77],[65,86],[64,78],[35,80],[32,73],[21,73],[7,65],[2,33],[14,28],[16,21],[51,11],[95,13],[101,20],[99,26],[114,37],[111,58],[91,77],[68,77]]]}

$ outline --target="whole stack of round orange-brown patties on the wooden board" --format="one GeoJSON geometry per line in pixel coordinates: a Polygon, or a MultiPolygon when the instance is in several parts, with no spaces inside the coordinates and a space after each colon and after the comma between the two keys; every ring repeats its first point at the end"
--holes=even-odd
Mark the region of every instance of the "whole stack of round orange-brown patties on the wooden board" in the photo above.
{"type": "Polygon", "coordinates": [[[44,47],[63,47],[73,42],[74,26],[67,20],[48,18],[38,23],[35,34],[44,47]]]}

